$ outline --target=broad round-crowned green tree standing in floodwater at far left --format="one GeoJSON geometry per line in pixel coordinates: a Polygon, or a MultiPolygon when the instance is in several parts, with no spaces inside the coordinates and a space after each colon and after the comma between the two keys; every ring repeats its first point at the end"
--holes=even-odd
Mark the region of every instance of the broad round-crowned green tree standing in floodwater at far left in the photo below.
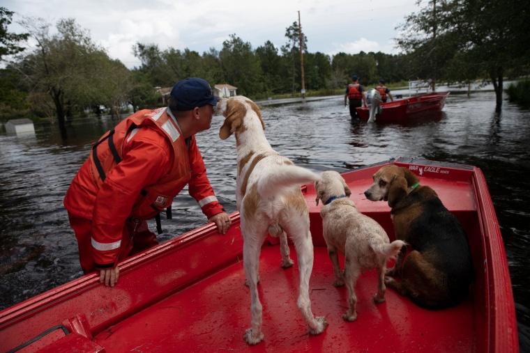
{"type": "Polygon", "coordinates": [[[37,46],[14,66],[23,77],[34,109],[55,115],[59,129],[66,132],[65,117],[82,109],[81,104],[98,100],[112,104],[116,92],[109,87],[126,72],[116,70],[105,50],[92,42],[75,19],[60,19],[53,35],[51,25],[43,19],[24,18],[21,24],[37,46]]]}

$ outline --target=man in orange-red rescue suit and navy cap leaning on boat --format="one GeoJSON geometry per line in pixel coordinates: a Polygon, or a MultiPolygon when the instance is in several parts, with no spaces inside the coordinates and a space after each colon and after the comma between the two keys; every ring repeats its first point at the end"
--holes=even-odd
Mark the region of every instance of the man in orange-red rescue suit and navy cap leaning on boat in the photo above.
{"type": "Polygon", "coordinates": [[[158,244],[146,220],[172,205],[185,185],[208,221],[226,233],[230,218],[195,142],[197,132],[210,128],[218,99],[204,79],[183,79],[169,107],[138,111],[93,145],[64,198],[85,274],[99,271],[100,282],[114,286],[119,260],[158,244]]]}

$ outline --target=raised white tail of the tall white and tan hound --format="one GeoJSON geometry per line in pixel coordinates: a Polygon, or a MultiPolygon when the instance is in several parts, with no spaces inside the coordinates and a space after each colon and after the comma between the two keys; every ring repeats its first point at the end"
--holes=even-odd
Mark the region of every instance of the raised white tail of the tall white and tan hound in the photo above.
{"type": "Polygon", "coordinates": [[[263,197],[271,197],[282,194],[283,191],[292,189],[294,186],[321,180],[317,173],[300,166],[282,165],[265,171],[259,182],[257,192],[263,197]]]}

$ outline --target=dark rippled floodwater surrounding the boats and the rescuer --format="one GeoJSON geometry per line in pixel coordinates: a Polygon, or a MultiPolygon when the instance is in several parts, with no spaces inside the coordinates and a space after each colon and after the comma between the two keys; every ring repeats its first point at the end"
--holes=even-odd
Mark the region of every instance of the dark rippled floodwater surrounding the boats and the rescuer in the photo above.
{"type": "MultiPolygon", "coordinates": [[[[505,101],[496,113],[494,100],[491,92],[452,93],[439,115],[391,125],[351,122],[342,96],[264,106],[262,116],[273,148],[313,171],[400,156],[481,168],[506,246],[523,352],[530,350],[530,111],[505,101]]],[[[67,136],[54,125],[36,125],[29,136],[0,135],[0,309],[82,276],[63,196],[91,142],[116,123],[75,119],[67,136]]],[[[234,212],[235,141],[218,138],[221,123],[214,117],[197,143],[220,202],[234,212]]],[[[173,209],[172,220],[162,217],[160,242],[206,222],[185,191],[173,209]]]]}

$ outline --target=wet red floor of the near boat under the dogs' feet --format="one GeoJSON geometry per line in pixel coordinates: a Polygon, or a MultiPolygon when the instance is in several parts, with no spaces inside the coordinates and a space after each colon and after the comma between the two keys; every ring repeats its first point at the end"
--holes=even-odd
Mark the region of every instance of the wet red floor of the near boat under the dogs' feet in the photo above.
{"type": "Polygon", "coordinates": [[[260,262],[259,298],[263,305],[264,340],[249,347],[250,293],[244,285],[243,262],[237,262],[146,308],[93,342],[107,352],[471,352],[474,347],[474,304],[471,299],[444,311],[418,308],[393,290],[375,304],[375,271],[365,272],[356,287],[355,322],[345,322],[347,288],[333,287],[333,266],[324,246],[315,247],[310,279],[312,311],[329,325],[323,334],[307,333],[296,299],[298,267],[280,267],[280,246],[266,245],[260,262]],[[458,321],[455,322],[455,317],[458,321]]]}

